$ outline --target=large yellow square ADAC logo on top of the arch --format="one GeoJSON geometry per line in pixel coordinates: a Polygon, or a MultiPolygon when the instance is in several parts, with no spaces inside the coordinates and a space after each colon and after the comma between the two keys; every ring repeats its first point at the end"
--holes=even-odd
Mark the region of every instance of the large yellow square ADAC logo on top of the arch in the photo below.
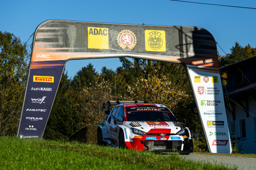
{"type": "Polygon", "coordinates": [[[88,48],[108,50],[108,28],[88,27],[88,48]]]}

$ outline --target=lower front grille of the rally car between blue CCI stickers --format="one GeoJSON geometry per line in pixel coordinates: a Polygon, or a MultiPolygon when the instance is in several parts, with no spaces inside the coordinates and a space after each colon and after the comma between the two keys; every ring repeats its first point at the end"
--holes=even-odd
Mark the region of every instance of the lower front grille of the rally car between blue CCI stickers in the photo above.
{"type": "Polygon", "coordinates": [[[145,140],[144,145],[147,150],[173,152],[181,149],[181,140],[145,140]]]}

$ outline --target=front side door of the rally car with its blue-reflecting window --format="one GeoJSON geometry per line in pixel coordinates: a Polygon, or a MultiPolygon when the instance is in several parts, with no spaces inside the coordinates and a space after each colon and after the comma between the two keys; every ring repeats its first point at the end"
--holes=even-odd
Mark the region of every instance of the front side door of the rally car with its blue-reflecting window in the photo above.
{"type": "Polygon", "coordinates": [[[117,141],[118,139],[118,125],[123,124],[123,117],[124,117],[124,108],[122,106],[119,106],[114,116],[114,118],[116,119],[116,124],[114,123],[114,120],[115,120],[114,119],[113,123],[111,123],[110,125],[113,130],[111,131],[111,137],[115,141],[117,141]]]}

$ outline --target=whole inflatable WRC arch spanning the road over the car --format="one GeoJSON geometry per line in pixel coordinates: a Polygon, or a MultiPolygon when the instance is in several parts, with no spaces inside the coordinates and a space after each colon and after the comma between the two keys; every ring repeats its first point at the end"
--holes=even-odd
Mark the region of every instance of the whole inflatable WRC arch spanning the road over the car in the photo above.
{"type": "Polygon", "coordinates": [[[207,30],[190,26],[44,21],[34,34],[17,136],[43,136],[68,60],[113,57],[184,64],[209,151],[232,152],[216,42],[207,30]]]}

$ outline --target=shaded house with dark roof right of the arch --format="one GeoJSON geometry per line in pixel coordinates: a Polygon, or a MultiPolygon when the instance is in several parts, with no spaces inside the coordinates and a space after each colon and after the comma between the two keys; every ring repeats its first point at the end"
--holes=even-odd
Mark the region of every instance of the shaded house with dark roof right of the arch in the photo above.
{"type": "Polygon", "coordinates": [[[256,56],[220,68],[230,137],[256,153],[256,56]],[[225,74],[224,74],[225,75],[225,74]]]}

